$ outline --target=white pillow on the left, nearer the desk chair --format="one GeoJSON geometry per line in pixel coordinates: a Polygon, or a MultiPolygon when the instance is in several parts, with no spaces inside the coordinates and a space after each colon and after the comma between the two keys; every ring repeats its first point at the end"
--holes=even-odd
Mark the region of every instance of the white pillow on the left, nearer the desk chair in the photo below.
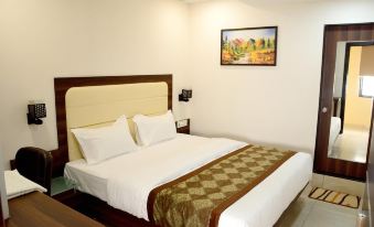
{"type": "Polygon", "coordinates": [[[109,127],[72,129],[88,164],[138,150],[129,132],[127,118],[121,116],[109,127]]]}

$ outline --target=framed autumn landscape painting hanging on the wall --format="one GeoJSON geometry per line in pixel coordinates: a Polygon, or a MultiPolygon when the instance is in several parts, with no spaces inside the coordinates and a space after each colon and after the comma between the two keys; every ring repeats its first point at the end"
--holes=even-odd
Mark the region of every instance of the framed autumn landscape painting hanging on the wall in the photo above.
{"type": "Polygon", "coordinates": [[[221,65],[277,65],[278,26],[221,30],[221,65]]]}

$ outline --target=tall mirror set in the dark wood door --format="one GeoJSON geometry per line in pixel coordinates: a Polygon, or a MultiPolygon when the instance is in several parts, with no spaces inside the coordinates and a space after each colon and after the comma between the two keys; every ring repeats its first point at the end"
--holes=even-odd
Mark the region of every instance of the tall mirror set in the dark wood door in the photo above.
{"type": "Polygon", "coordinates": [[[374,43],[338,42],[328,158],[366,163],[374,95],[374,43]]]}

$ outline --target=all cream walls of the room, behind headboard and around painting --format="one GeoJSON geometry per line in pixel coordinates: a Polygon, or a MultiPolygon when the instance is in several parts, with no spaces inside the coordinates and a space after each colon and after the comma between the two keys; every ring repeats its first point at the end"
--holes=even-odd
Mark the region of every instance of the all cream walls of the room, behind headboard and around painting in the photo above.
{"type": "Polygon", "coordinates": [[[172,73],[177,118],[192,133],[313,152],[323,24],[374,21],[372,1],[3,0],[0,140],[57,148],[53,78],[172,73]],[[278,64],[221,66],[221,29],[278,25],[278,64]],[[192,88],[190,102],[178,101],[192,88]],[[26,125],[26,104],[47,118],[26,125]]]}

